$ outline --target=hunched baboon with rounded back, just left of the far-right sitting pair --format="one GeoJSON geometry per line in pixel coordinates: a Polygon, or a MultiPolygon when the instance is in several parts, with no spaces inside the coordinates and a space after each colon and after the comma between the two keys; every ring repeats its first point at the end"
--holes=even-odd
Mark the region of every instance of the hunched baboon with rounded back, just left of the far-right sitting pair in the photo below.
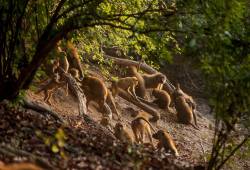
{"type": "Polygon", "coordinates": [[[152,95],[156,98],[153,103],[157,104],[159,108],[167,110],[167,112],[172,112],[170,109],[171,98],[166,91],[154,89],[152,95]]]}

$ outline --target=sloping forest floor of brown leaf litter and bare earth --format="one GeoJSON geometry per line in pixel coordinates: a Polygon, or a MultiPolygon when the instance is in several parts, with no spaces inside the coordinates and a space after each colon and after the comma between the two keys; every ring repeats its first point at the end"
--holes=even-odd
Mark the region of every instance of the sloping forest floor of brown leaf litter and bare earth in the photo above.
{"type": "MultiPolygon", "coordinates": [[[[93,67],[92,71],[103,78],[96,67],[93,67]]],[[[197,102],[197,110],[201,115],[198,116],[200,130],[177,123],[175,114],[160,109],[157,110],[162,118],[157,126],[153,124],[156,130],[164,129],[171,134],[180,154],[177,158],[164,152],[154,151],[149,145],[130,146],[120,143],[113,139],[106,129],[87,124],[78,114],[76,100],[71,95],[66,96],[64,91],[59,89],[51,99],[51,108],[66,120],[66,124],[32,110],[13,109],[6,104],[0,104],[0,144],[32,153],[32,155],[6,153],[0,148],[0,160],[5,163],[34,162],[33,156],[36,155],[39,159],[46,160],[49,166],[35,161],[40,166],[47,166],[45,169],[193,169],[196,165],[203,164],[211,151],[213,119],[209,115],[210,109],[206,99],[193,91],[189,93],[197,102]],[[59,133],[60,130],[64,133],[59,133]],[[58,137],[58,134],[65,139],[58,137]],[[60,140],[64,144],[61,147],[60,140]],[[54,145],[58,146],[58,150],[53,148],[54,145]]],[[[33,101],[44,103],[42,93],[35,94],[28,90],[27,96],[33,101]]],[[[132,133],[131,111],[140,109],[120,97],[116,97],[115,101],[122,114],[122,123],[132,133]]],[[[89,116],[99,122],[102,114],[95,109],[94,104],[91,104],[89,116]]],[[[116,122],[112,120],[112,125],[116,122]]],[[[156,140],[154,144],[156,145],[156,140]]]]}

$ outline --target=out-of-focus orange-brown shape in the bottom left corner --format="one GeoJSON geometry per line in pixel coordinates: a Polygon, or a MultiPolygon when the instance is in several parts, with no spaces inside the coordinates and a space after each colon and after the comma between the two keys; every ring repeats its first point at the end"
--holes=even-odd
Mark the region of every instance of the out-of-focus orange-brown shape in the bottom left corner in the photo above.
{"type": "Polygon", "coordinates": [[[0,170],[42,170],[42,168],[31,163],[13,163],[9,165],[0,165],[0,170]]]}

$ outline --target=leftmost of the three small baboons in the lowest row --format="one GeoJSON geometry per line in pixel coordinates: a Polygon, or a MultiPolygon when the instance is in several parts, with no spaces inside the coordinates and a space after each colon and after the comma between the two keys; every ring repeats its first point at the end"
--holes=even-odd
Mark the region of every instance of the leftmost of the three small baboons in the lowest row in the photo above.
{"type": "Polygon", "coordinates": [[[127,129],[124,128],[124,126],[118,122],[116,123],[114,127],[114,135],[117,139],[124,143],[134,143],[133,137],[130,135],[130,133],[127,131],[127,129]]]}

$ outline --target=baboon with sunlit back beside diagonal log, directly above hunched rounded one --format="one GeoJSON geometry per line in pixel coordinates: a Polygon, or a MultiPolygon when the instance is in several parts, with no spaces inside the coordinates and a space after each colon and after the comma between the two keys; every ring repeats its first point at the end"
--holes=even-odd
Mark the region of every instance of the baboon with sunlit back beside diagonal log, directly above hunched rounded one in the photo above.
{"type": "Polygon", "coordinates": [[[155,74],[142,74],[142,77],[145,82],[145,87],[147,89],[149,88],[157,88],[162,89],[163,84],[166,82],[167,78],[165,75],[161,73],[155,73],[155,74]]]}

